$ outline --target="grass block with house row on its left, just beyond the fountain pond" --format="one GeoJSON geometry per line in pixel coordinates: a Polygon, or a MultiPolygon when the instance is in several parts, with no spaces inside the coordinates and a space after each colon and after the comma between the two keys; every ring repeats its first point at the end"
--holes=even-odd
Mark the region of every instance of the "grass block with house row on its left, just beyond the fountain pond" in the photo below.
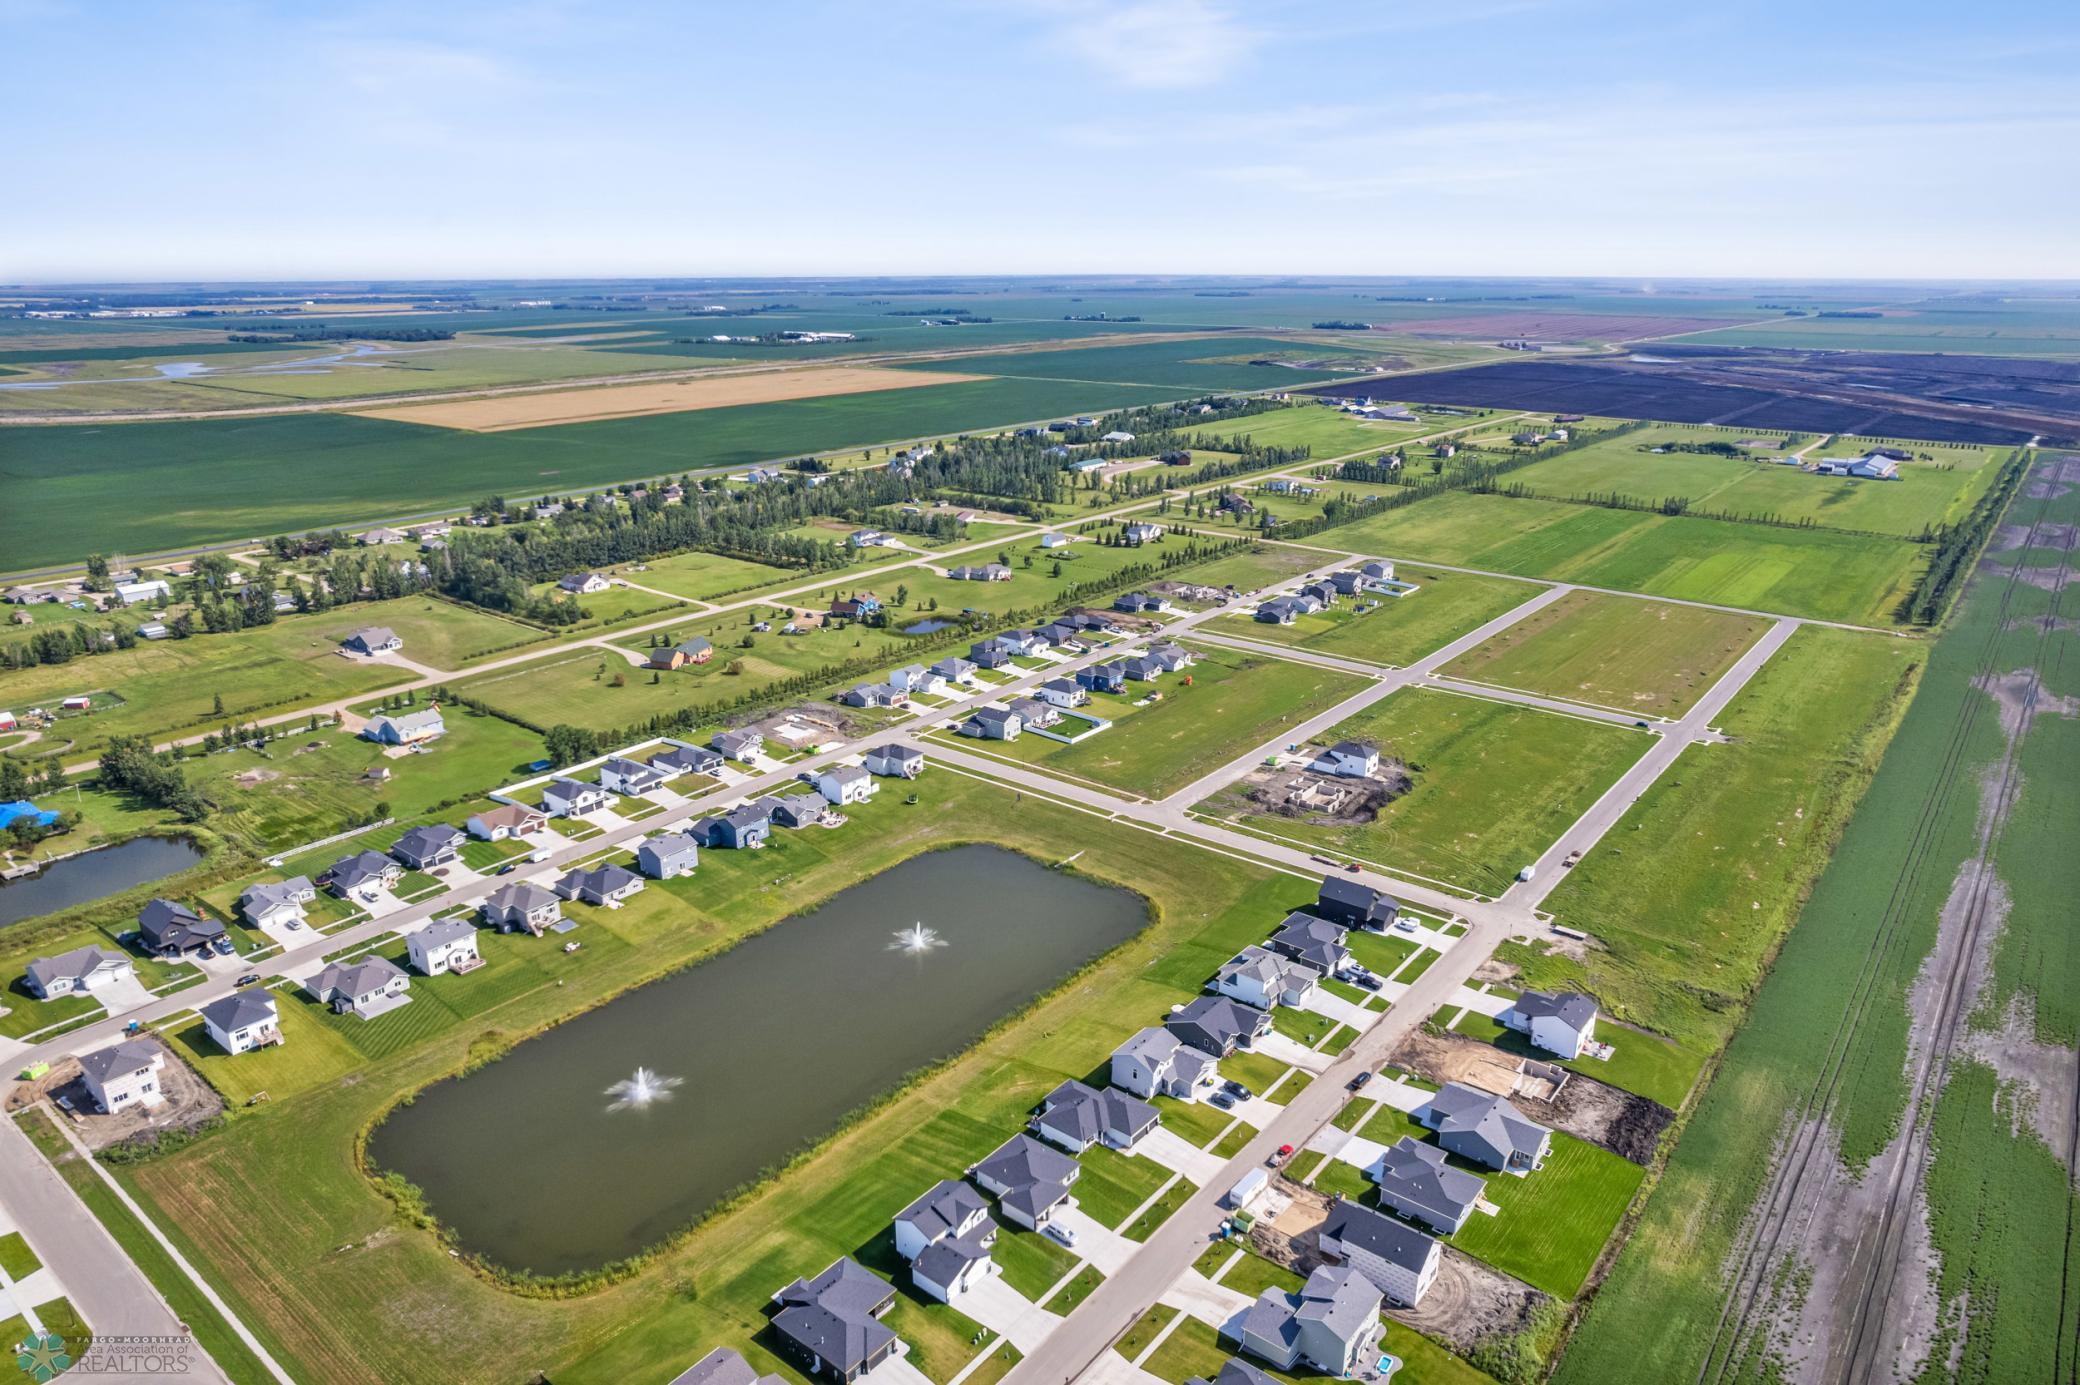
{"type": "Polygon", "coordinates": [[[1163,692],[1159,703],[1134,705],[1148,684],[1127,684],[1132,690],[1123,695],[1094,692],[1086,711],[1113,726],[1077,744],[1044,736],[955,740],[948,734],[948,740],[965,751],[1161,799],[1273,736],[1279,726],[1304,722],[1364,686],[1352,674],[1238,649],[1198,647],[1194,653],[1198,663],[1154,684],[1163,692]],[[1192,686],[1184,686],[1186,676],[1192,686]]]}

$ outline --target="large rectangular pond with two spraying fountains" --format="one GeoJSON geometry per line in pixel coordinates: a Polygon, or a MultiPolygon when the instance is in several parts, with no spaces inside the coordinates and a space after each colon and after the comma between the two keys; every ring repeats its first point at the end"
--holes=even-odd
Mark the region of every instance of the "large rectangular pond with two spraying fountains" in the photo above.
{"type": "MultiPolygon", "coordinates": [[[[996,846],[915,857],[428,1088],[368,1154],[499,1264],[605,1264],[961,1052],[1146,921],[1138,894],[996,846]],[[905,948],[907,930],[930,936],[905,948]],[[636,1067],[678,1086],[620,1102],[609,1088],[636,1067]]],[[[374,1023],[399,1019],[410,1023],[374,1023]]]]}

